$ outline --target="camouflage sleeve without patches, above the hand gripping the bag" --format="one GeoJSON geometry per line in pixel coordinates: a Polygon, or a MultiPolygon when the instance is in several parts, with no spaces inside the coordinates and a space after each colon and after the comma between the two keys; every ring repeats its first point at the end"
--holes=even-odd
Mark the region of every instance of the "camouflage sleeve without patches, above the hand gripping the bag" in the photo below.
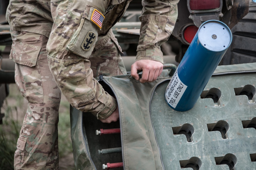
{"type": "Polygon", "coordinates": [[[142,0],[140,39],[137,60],[155,60],[163,63],[160,45],[171,35],[178,17],[179,0],[142,0]]]}

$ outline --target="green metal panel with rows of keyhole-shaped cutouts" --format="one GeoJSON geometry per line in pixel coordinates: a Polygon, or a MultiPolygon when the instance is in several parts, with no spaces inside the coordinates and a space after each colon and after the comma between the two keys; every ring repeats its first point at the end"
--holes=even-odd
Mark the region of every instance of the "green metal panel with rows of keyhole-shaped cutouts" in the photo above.
{"type": "Polygon", "coordinates": [[[168,83],[155,89],[150,104],[165,169],[256,169],[256,73],[212,76],[186,112],[165,102],[168,83]]]}

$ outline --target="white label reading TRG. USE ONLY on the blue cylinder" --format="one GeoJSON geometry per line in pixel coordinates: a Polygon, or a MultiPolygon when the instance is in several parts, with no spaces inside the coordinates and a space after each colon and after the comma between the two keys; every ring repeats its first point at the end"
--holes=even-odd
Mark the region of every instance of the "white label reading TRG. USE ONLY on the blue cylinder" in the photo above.
{"type": "Polygon", "coordinates": [[[173,74],[172,79],[165,90],[165,99],[173,108],[176,108],[180,98],[188,87],[180,81],[177,70],[173,74]]]}

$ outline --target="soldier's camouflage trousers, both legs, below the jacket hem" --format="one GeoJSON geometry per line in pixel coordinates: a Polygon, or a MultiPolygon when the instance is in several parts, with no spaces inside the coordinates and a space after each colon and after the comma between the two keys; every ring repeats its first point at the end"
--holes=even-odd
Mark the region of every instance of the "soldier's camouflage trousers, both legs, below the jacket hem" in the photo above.
{"type": "MultiPolygon", "coordinates": [[[[11,35],[13,45],[10,58],[16,62],[16,85],[28,100],[17,141],[14,167],[24,170],[59,169],[58,109],[61,91],[48,66],[48,38],[41,34],[12,30],[11,35]]],[[[112,31],[107,35],[98,38],[89,57],[94,76],[126,73],[118,49],[120,46],[113,42],[112,31]]]]}

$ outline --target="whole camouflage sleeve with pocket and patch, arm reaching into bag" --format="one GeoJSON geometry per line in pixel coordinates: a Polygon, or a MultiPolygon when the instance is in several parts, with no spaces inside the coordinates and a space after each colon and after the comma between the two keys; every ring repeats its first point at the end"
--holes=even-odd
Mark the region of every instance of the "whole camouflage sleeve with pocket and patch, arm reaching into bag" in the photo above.
{"type": "MultiPolygon", "coordinates": [[[[54,24],[46,48],[50,70],[68,102],[98,119],[107,118],[117,106],[115,99],[93,77],[90,68],[90,55],[97,40],[107,50],[107,55],[113,54],[105,48],[112,32],[105,38],[98,38],[99,27],[91,20],[96,7],[98,11],[105,11],[106,3],[101,0],[52,2],[54,24]]],[[[105,58],[103,50],[98,49],[97,52],[100,53],[99,58],[105,58]]],[[[104,60],[103,66],[107,65],[107,61],[104,60]]]]}

